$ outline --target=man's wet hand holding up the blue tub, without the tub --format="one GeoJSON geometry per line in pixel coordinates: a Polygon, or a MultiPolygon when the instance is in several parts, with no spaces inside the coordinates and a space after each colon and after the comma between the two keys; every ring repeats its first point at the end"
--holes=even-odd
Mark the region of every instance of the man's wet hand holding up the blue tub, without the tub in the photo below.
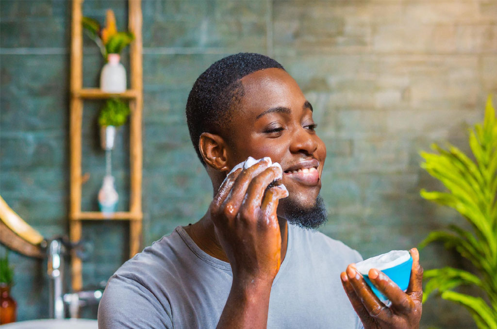
{"type": "Polygon", "coordinates": [[[346,272],[341,273],[343,288],[364,329],[419,328],[423,268],[419,265],[417,249],[412,248],[410,252],[413,257],[413,267],[407,292],[402,291],[383,272],[377,269],[369,270],[369,279],[392,302],[390,307],[383,304],[372,292],[354,264],[348,265],[346,272]]]}

